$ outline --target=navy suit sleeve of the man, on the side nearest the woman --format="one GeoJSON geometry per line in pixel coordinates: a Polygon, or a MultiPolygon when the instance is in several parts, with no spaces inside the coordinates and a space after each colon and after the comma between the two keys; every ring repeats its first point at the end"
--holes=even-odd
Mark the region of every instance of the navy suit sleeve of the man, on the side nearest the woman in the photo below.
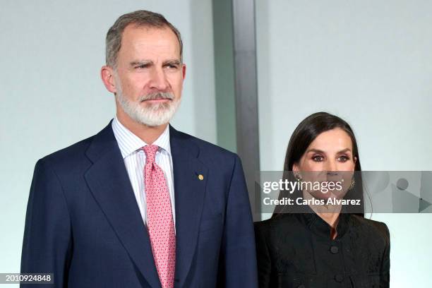
{"type": "Polygon", "coordinates": [[[251,205],[238,156],[227,196],[220,275],[219,287],[258,287],[251,205]]]}

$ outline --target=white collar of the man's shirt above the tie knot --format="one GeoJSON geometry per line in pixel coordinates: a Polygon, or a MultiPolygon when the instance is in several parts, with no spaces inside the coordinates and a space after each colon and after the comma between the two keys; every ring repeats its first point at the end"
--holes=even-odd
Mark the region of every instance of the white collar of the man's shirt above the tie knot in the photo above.
{"type": "MultiPolygon", "coordinates": [[[[123,159],[128,155],[131,155],[133,152],[136,152],[136,150],[148,145],[123,124],[121,124],[119,119],[117,119],[117,116],[115,116],[112,121],[112,131],[114,132],[114,136],[116,137],[117,143],[119,144],[123,159]]],[[[164,132],[152,144],[159,146],[163,150],[167,151],[169,155],[171,155],[171,145],[169,143],[169,125],[167,125],[167,128],[165,128],[164,132]]]]}

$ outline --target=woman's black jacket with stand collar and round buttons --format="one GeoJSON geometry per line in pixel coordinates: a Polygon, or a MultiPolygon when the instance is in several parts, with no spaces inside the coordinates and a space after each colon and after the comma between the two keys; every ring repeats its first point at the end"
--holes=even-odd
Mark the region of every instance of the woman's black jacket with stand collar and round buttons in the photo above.
{"type": "Polygon", "coordinates": [[[389,287],[390,234],[382,222],[341,214],[337,237],[315,213],[255,223],[259,286],[389,287]]]}

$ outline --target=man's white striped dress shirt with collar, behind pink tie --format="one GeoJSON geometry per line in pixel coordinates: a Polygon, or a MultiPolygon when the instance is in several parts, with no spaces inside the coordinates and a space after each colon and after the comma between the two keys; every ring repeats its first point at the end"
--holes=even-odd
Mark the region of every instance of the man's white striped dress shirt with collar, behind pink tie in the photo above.
{"type": "MultiPolygon", "coordinates": [[[[143,222],[147,226],[148,218],[144,183],[145,152],[141,148],[148,144],[121,124],[117,116],[114,117],[112,121],[112,131],[114,131],[114,136],[119,144],[121,156],[123,157],[126,171],[131,180],[133,193],[135,194],[136,202],[140,208],[141,217],[143,217],[143,222]]],[[[171,145],[169,143],[169,125],[167,125],[164,132],[152,144],[159,146],[159,150],[156,152],[155,162],[164,172],[167,181],[175,229],[174,178],[171,145]]]]}

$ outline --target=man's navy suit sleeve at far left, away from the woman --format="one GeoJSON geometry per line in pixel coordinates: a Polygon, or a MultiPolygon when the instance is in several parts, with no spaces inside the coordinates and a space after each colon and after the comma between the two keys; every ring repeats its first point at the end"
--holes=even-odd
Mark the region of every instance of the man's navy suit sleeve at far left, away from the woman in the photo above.
{"type": "Polygon", "coordinates": [[[21,272],[53,273],[54,284],[36,286],[66,287],[71,239],[71,220],[59,178],[47,163],[39,160],[35,166],[25,215],[21,272]]]}

